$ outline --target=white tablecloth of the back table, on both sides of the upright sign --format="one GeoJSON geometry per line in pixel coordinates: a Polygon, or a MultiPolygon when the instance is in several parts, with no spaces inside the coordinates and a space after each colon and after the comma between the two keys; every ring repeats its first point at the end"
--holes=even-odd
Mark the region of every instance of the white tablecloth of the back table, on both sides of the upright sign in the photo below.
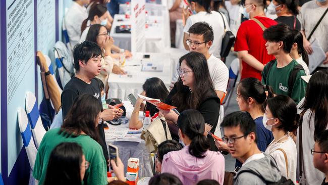
{"type": "MultiPolygon", "coordinates": [[[[126,5],[120,6],[121,13],[124,12],[122,9],[124,9],[125,6],[126,5]]],[[[146,11],[148,12],[149,20],[148,28],[146,28],[146,52],[159,53],[164,48],[170,48],[170,17],[168,9],[161,5],[146,4],[146,11]]],[[[111,36],[114,38],[114,43],[116,45],[120,48],[131,51],[131,34],[115,32],[116,26],[120,25],[131,25],[131,21],[126,19],[123,14],[115,15],[111,29],[111,36]]]]}

